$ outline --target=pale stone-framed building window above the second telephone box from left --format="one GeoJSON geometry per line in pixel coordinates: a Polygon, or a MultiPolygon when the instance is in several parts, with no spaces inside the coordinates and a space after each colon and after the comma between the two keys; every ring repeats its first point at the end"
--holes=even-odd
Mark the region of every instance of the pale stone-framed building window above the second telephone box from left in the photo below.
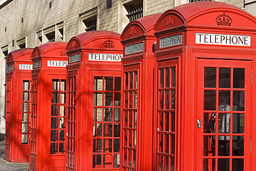
{"type": "Polygon", "coordinates": [[[36,34],[37,46],[51,41],[64,41],[64,22],[39,30],[36,34]]]}

